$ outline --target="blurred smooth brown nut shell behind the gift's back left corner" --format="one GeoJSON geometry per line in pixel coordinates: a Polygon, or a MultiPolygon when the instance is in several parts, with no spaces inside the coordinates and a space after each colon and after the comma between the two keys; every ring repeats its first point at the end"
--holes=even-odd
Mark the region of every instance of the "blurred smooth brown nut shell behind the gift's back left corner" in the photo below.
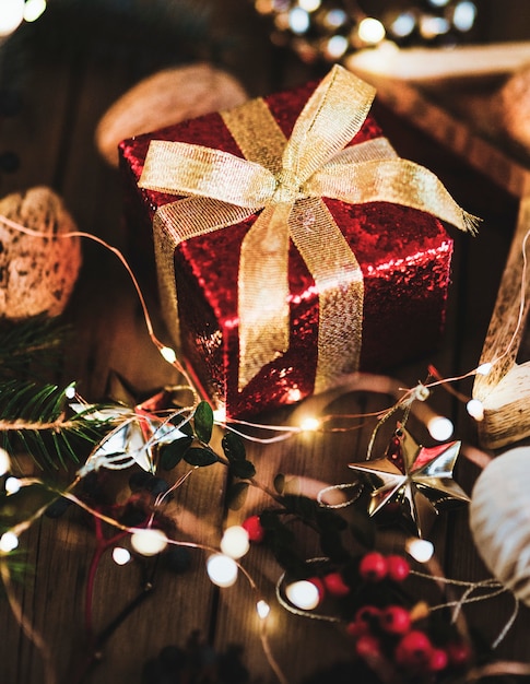
{"type": "Polygon", "coordinates": [[[140,81],[103,116],[95,141],[102,156],[118,165],[118,143],[248,99],[229,74],[210,64],[165,69],[140,81]]]}

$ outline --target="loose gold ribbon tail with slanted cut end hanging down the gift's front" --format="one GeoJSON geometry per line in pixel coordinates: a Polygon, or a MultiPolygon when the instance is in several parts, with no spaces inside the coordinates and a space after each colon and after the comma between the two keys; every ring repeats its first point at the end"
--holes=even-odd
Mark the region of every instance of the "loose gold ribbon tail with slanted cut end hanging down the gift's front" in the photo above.
{"type": "Polygon", "coordinates": [[[291,209],[291,204],[266,208],[243,240],[238,282],[239,391],[288,347],[291,209]]]}

